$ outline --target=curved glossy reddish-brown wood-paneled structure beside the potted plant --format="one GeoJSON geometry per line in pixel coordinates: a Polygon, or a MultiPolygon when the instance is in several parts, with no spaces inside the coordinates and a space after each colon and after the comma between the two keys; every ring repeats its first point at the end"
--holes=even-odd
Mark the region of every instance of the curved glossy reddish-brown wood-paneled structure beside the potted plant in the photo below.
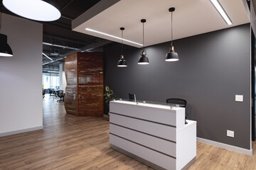
{"type": "Polygon", "coordinates": [[[102,116],[104,88],[102,52],[78,52],[69,55],[65,59],[65,74],[67,113],[102,116]]]}

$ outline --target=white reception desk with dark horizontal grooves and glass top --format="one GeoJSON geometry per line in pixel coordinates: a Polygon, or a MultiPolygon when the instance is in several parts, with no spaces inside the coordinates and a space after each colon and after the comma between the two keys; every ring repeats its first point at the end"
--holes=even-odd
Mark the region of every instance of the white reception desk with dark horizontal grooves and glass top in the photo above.
{"type": "Polygon", "coordinates": [[[196,121],[166,103],[110,101],[110,147],[154,169],[196,161],[196,121]]]}

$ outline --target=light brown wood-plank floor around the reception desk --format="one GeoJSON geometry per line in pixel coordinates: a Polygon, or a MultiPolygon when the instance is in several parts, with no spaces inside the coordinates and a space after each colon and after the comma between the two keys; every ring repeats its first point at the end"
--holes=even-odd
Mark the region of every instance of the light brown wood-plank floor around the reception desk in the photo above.
{"type": "MultiPolygon", "coordinates": [[[[110,149],[107,118],[67,115],[63,103],[46,96],[43,125],[43,130],[0,137],[0,169],[150,169],[110,149]]],[[[256,154],[198,142],[196,163],[189,170],[199,169],[256,170],[256,154]]]]}

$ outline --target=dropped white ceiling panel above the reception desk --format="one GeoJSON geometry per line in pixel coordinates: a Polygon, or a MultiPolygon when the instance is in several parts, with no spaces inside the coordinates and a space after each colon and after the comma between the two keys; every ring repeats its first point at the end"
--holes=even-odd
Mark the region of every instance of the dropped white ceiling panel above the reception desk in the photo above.
{"type": "MultiPolygon", "coordinates": [[[[73,30],[120,42],[121,40],[92,33],[85,28],[121,37],[119,28],[124,27],[124,39],[142,43],[140,20],[146,19],[144,46],[155,45],[171,40],[171,13],[168,11],[170,7],[176,8],[173,13],[174,40],[249,23],[242,0],[219,1],[233,25],[228,26],[225,23],[210,0],[121,0],[97,15],[94,14],[88,20],[88,16],[91,15],[90,11],[99,11],[99,8],[102,8],[100,3],[92,6],[89,12],[86,11],[75,19],[73,30]]],[[[124,43],[142,47],[130,42],[124,43]]]]}

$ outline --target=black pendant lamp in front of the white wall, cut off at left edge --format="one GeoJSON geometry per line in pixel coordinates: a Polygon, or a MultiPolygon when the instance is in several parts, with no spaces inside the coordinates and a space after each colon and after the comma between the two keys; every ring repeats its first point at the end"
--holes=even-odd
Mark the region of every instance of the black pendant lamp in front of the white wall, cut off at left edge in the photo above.
{"type": "MultiPolygon", "coordinates": [[[[1,6],[0,6],[1,8],[1,6]]],[[[0,11],[0,31],[1,31],[1,11],[0,11]]],[[[0,57],[13,57],[9,44],[7,44],[7,35],[0,33],[0,57]]]]}

